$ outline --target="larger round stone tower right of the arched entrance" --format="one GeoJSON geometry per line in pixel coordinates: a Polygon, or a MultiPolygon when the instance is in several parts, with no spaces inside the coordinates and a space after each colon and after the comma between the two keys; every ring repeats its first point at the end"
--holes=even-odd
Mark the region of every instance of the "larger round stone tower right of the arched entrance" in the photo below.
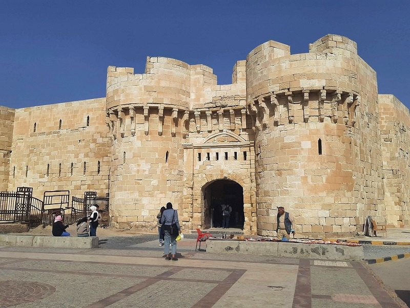
{"type": "Polygon", "coordinates": [[[275,234],[277,206],[299,237],[351,236],[384,217],[376,74],[346,37],[309,47],[270,41],[247,57],[261,235],[275,234]]]}

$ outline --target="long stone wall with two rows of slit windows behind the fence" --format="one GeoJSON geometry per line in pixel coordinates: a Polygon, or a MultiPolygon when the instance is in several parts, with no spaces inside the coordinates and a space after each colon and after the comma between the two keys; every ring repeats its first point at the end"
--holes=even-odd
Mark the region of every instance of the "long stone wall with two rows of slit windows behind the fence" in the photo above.
{"type": "Polygon", "coordinates": [[[8,189],[30,186],[41,200],[45,190],[105,195],[110,168],[105,103],[94,99],[16,109],[8,189]]]}

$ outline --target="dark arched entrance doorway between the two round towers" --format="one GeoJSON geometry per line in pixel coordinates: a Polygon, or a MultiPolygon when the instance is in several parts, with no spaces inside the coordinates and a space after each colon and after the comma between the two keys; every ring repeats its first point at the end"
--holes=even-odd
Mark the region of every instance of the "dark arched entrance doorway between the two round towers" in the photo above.
{"type": "Polygon", "coordinates": [[[216,180],[203,189],[204,226],[222,226],[222,204],[232,207],[229,227],[243,229],[243,188],[230,180],[216,180]]]}

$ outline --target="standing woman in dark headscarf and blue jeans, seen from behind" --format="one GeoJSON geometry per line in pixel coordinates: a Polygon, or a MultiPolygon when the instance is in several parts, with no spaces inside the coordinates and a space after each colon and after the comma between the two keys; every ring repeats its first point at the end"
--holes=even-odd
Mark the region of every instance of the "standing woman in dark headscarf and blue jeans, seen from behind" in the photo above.
{"type": "Polygon", "coordinates": [[[171,235],[171,225],[173,223],[176,224],[179,234],[181,233],[181,226],[179,225],[178,212],[172,208],[171,202],[167,203],[167,209],[163,211],[162,217],[160,219],[160,223],[163,224],[163,232],[164,232],[164,239],[165,239],[165,245],[163,246],[163,254],[167,256],[165,260],[172,259],[172,261],[178,261],[178,258],[175,256],[177,235],[171,235]],[[170,255],[170,243],[171,243],[172,258],[170,255]]]}

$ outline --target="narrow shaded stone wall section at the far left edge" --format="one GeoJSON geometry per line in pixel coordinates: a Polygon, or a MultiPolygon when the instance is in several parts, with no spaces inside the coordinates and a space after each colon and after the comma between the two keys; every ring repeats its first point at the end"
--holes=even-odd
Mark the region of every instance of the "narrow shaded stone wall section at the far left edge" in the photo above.
{"type": "Polygon", "coordinates": [[[0,191],[8,189],[15,109],[0,106],[0,191]]]}

